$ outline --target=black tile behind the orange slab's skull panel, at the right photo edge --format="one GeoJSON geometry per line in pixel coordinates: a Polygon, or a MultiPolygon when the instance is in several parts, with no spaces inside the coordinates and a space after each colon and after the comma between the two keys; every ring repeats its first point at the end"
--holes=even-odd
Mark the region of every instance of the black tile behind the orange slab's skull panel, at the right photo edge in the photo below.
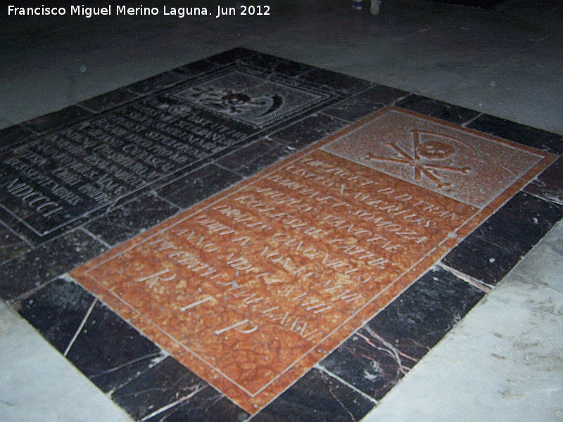
{"type": "Polygon", "coordinates": [[[549,151],[555,154],[563,153],[563,136],[524,126],[524,124],[509,122],[499,117],[481,115],[469,123],[467,127],[477,129],[486,134],[510,139],[510,141],[542,151],[549,151]]]}

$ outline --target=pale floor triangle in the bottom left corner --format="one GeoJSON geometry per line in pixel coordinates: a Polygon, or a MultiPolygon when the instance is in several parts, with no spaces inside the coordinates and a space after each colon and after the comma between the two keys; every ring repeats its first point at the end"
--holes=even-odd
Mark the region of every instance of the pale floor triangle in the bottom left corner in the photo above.
{"type": "Polygon", "coordinates": [[[93,415],[99,421],[132,421],[13,309],[0,303],[0,419],[87,422],[93,415]]]}

